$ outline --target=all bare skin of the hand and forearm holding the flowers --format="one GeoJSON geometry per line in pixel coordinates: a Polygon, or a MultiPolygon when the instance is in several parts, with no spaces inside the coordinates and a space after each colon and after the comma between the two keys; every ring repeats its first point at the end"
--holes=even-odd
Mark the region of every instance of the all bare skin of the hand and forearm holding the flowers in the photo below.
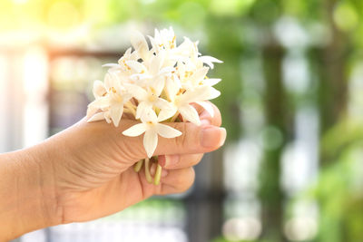
{"type": "Polygon", "coordinates": [[[220,111],[213,107],[213,118],[198,109],[199,127],[167,123],[183,134],[159,137],[154,155],[163,171],[158,186],[147,183],[143,169],[133,171],[146,153],[142,136],[122,135],[136,123],[132,120],[123,119],[115,128],[83,119],[34,147],[0,154],[0,241],[43,227],[102,218],[152,195],[189,189],[195,176],[192,167],[226,138],[220,111]]]}

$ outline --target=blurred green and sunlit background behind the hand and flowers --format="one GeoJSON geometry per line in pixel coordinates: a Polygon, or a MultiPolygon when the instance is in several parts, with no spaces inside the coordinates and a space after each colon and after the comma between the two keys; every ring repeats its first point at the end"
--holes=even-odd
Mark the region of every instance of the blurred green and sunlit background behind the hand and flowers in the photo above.
{"type": "Polygon", "coordinates": [[[1,0],[0,152],[80,120],[132,30],[169,26],[224,61],[224,149],[185,194],[17,241],[363,241],[361,0],[1,0]]]}

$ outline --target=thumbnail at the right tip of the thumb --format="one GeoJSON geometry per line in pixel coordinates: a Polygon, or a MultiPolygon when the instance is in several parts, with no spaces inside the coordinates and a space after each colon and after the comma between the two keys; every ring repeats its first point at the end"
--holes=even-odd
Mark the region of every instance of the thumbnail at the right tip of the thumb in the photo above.
{"type": "Polygon", "coordinates": [[[226,130],[224,128],[211,126],[201,131],[201,146],[204,148],[220,147],[225,140],[226,130]]]}

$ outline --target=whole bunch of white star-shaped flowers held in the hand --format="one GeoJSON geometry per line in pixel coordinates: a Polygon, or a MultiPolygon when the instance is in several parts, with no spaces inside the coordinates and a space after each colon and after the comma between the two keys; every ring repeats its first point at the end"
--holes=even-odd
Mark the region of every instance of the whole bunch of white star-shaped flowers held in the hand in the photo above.
{"type": "Polygon", "coordinates": [[[95,81],[95,101],[88,105],[88,121],[105,120],[115,126],[124,112],[132,114],[141,123],[123,131],[126,136],[144,133],[143,145],[149,158],[158,143],[158,135],[174,138],[182,132],[162,124],[167,121],[191,121],[201,124],[198,112],[191,103],[201,105],[213,115],[208,100],[221,92],[212,86],[221,79],[207,77],[213,63],[221,63],[211,56],[201,56],[198,42],[184,37],[177,46],[172,30],[155,30],[148,36],[149,48],[142,34],[132,36],[129,48],[118,63],[110,63],[104,81],[95,81]],[[206,65],[208,66],[206,66],[206,65]]]}

